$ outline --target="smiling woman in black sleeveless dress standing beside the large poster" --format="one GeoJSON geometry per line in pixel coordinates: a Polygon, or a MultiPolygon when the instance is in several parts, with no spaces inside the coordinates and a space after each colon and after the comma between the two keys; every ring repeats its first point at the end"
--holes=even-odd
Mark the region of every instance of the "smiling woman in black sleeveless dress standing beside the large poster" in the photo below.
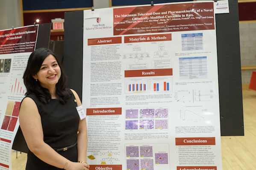
{"type": "Polygon", "coordinates": [[[29,57],[24,73],[27,92],[19,121],[29,147],[26,170],[88,170],[86,120],[82,105],[53,52],[39,48],[29,57]]]}

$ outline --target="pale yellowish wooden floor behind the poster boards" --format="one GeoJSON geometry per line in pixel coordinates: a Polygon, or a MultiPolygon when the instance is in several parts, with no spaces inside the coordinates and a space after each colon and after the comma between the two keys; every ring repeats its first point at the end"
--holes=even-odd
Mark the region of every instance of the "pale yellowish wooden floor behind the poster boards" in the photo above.
{"type": "MultiPolygon", "coordinates": [[[[223,170],[256,170],[256,91],[243,90],[244,136],[222,136],[223,170]]],[[[25,170],[26,153],[12,152],[12,170],[25,170]]]]}

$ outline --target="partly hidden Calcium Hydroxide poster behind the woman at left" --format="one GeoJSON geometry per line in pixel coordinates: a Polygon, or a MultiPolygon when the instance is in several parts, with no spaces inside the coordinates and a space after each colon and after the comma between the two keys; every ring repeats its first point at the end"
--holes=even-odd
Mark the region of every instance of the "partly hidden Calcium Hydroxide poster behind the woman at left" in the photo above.
{"type": "Polygon", "coordinates": [[[0,170],[12,169],[12,144],[26,93],[22,77],[37,34],[38,26],[0,31],[0,170]]]}

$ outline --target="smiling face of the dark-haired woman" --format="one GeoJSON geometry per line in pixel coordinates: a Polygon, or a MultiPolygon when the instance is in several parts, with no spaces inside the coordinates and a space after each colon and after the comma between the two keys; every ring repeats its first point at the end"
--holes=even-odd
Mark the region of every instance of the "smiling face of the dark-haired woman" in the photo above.
{"type": "Polygon", "coordinates": [[[38,79],[40,85],[43,88],[55,88],[59,78],[61,76],[61,70],[59,64],[53,55],[48,55],[37,74],[33,76],[34,79],[38,79]]]}

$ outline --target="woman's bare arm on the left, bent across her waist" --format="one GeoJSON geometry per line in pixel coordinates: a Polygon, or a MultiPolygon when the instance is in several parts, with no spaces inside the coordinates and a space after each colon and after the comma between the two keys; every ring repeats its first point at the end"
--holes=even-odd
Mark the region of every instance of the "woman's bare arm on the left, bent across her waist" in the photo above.
{"type": "MultiPolygon", "coordinates": [[[[29,150],[47,164],[64,168],[67,159],[44,142],[41,116],[35,102],[26,97],[21,103],[19,121],[29,150]]],[[[84,163],[68,161],[65,170],[88,170],[84,163]]]]}

